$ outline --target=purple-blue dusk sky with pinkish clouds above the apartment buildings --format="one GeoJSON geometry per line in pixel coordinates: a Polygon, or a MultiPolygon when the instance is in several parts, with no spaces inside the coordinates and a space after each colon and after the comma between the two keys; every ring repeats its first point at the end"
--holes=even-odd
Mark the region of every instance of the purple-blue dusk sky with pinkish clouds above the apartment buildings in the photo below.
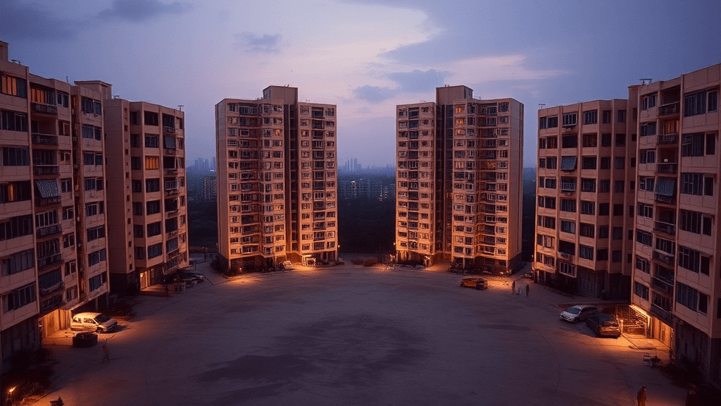
{"type": "Polygon", "coordinates": [[[30,72],[99,79],[113,94],[184,105],[187,159],[215,155],[214,105],[267,85],[336,104],[338,160],[394,163],[394,106],[443,85],[536,111],[626,98],[721,62],[721,2],[66,0],[0,2],[0,40],[30,72]]]}

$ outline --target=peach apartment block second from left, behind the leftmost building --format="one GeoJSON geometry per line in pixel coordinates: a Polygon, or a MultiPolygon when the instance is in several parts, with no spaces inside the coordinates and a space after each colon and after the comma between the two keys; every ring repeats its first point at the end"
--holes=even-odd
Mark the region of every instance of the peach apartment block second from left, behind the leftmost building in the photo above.
{"type": "Polygon", "coordinates": [[[131,293],[188,264],[185,116],[106,95],[110,286],[131,293]]]}

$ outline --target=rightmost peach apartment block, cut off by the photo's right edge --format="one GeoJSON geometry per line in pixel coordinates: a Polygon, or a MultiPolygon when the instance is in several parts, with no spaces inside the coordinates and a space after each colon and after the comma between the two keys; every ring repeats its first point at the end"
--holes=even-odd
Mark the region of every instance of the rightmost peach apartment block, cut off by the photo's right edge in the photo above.
{"type": "Polygon", "coordinates": [[[721,386],[721,64],[638,87],[632,313],[721,386]]]}

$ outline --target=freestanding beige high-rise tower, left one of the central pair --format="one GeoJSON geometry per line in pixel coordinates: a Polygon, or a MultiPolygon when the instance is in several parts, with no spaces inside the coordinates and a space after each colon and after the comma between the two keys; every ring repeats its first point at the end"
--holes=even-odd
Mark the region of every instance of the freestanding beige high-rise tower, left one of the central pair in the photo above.
{"type": "Polygon", "coordinates": [[[335,113],[295,87],[216,105],[218,251],[231,268],[337,259],[335,113]]]}

